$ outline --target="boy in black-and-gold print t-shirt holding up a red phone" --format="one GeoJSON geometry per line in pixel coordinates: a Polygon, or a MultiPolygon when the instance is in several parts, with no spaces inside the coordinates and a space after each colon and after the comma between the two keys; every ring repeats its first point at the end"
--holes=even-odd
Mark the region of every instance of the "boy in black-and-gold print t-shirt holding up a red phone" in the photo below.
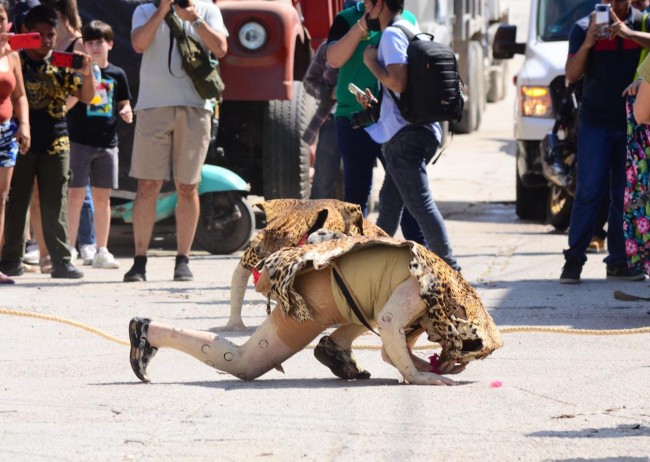
{"type": "Polygon", "coordinates": [[[52,65],[57,22],[56,12],[43,5],[32,8],[25,17],[27,32],[41,35],[41,47],[20,52],[32,146],[27,154],[16,160],[11,179],[0,262],[0,271],[9,276],[20,276],[24,272],[21,260],[25,251],[25,223],[36,178],[45,244],[52,257],[52,277],[83,277],[83,273],[70,263],[67,233],[70,143],[65,115],[69,96],[90,102],[95,88],[90,56],[77,53],[83,57],[78,70],[52,65]]]}

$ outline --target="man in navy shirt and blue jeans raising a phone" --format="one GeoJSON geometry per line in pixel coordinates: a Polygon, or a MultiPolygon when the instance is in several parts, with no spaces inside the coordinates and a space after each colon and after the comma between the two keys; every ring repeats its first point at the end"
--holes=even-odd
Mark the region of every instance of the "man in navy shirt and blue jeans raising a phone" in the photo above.
{"type": "Polygon", "coordinates": [[[599,208],[610,194],[606,277],[643,281],[645,275],[627,266],[623,237],[626,115],[624,90],[634,79],[643,48],[650,47],[649,18],[632,8],[631,0],[596,5],[578,20],[569,35],[566,78],[582,83],[578,128],[578,172],[569,224],[569,248],[560,283],[580,282],[585,251],[598,223],[599,208]],[[645,21],[645,27],[643,22],[645,21]]]}

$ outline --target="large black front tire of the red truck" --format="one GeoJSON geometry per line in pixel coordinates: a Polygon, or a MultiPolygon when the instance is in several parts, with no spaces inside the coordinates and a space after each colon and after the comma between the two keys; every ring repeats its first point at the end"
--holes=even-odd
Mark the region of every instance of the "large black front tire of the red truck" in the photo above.
{"type": "Polygon", "coordinates": [[[309,198],[309,146],[301,137],[316,112],[316,101],[302,82],[293,98],[270,101],[262,134],[264,198],[309,198]]]}

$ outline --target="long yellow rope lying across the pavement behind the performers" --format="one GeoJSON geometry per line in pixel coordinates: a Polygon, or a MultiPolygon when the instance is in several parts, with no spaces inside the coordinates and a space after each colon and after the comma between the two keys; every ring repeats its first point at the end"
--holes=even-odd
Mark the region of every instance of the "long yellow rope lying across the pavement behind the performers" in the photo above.
{"type": "MultiPolygon", "coordinates": [[[[70,319],[60,318],[58,316],[52,316],[49,314],[35,313],[33,311],[19,311],[19,310],[10,310],[7,308],[0,308],[0,314],[6,314],[9,316],[21,316],[25,318],[36,318],[36,319],[45,319],[47,321],[60,322],[62,324],[67,324],[69,326],[78,327],[79,329],[86,330],[92,334],[99,335],[100,337],[110,340],[111,342],[119,343],[120,345],[130,346],[130,342],[122,340],[121,338],[110,335],[102,330],[99,330],[95,327],[83,324],[81,322],[72,321],[70,319]]],[[[514,333],[529,333],[529,332],[538,332],[546,334],[569,334],[569,335],[632,335],[632,334],[648,334],[650,333],[650,327],[639,327],[635,329],[571,329],[568,327],[549,327],[549,326],[513,326],[513,327],[504,327],[499,329],[499,332],[502,334],[514,334],[514,333]]],[[[424,345],[416,345],[414,350],[430,350],[436,348],[438,345],[429,343],[424,345]]],[[[314,344],[310,344],[307,348],[314,348],[314,344]]],[[[355,344],[355,349],[361,350],[378,350],[381,348],[381,345],[373,344],[355,344]]]]}

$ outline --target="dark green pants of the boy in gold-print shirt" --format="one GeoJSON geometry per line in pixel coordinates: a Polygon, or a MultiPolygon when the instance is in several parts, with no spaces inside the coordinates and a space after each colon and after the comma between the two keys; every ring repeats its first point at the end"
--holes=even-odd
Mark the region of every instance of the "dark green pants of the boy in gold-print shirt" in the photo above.
{"type": "Polygon", "coordinates": [[[68,180],[70,153],[55,156],[29,152],[18,154],[5,215],[2,261],[20,261],[25,251],[25,224],[32,199],[34,178],[41,198],[45,245],[53,262],[70,261],[68,247],[68,180]]]}

